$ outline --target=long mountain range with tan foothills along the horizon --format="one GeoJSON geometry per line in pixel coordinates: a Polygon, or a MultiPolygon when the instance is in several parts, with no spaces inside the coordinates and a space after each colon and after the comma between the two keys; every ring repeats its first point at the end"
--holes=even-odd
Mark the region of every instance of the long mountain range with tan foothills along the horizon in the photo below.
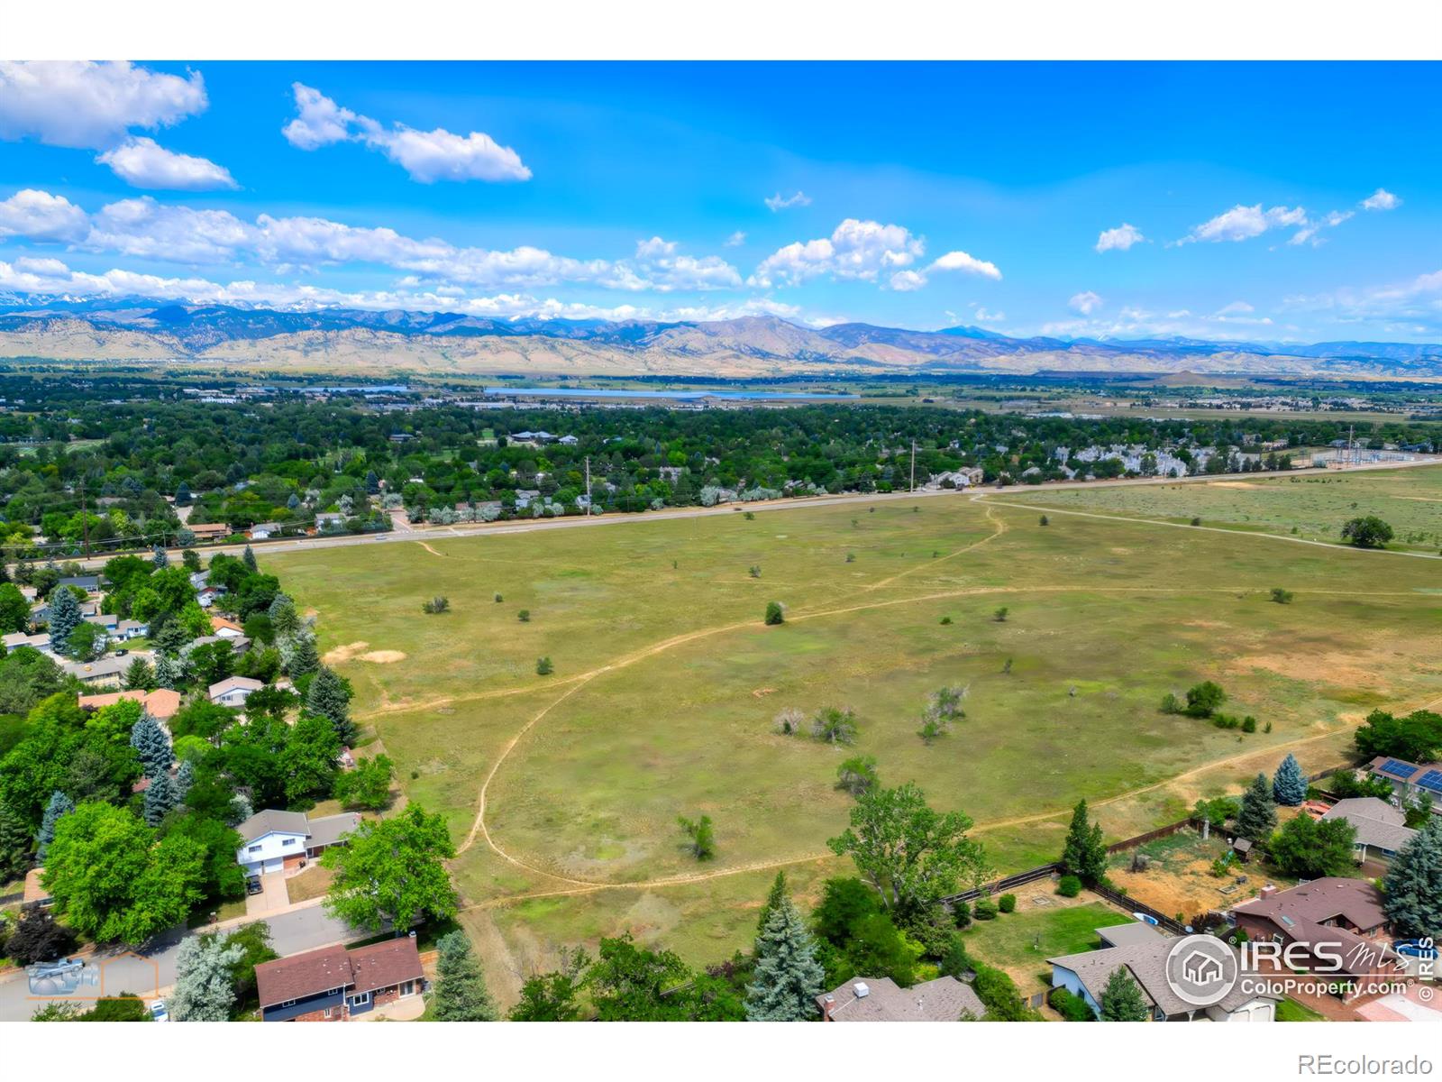
{"type": "Polygon", "coordinates": [[[440,312],[275,310],[144,300],[0,299],[0,358],[225,362],[267,369],[555,375],[1136,372],[1438,378],[1442,345],[1008,338],[981,327],[483,319],[440,312]]]}

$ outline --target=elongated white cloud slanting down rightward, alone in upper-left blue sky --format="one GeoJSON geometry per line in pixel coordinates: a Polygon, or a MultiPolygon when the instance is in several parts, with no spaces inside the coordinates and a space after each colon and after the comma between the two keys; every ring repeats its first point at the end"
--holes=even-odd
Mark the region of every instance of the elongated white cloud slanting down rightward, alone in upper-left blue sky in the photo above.
{"type": "Polygon", "coordinates": [[[446,128],[421,131],[405,124],[385,127],[379,121],[337,105],[313,87],[293,84],[296,117],[281,134],[300,150],[317,150],[332,143],[362,143],[395,162],[412,180],[529,180],[531,170],[521,154],[500,146],[485,131],[459,136],[446,128]]]}

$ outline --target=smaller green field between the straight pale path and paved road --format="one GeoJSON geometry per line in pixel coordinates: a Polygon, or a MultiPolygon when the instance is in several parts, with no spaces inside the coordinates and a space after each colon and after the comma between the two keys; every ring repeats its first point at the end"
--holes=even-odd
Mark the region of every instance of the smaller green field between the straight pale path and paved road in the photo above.
{"type": "Polygon", "coordinates": [[[1265,476],[1187,485],[1115,486],[1002,496],[1063,511],[1090,511],[1165,522],[1201,518],[1208,527],[1340,541],[1343,524],[1377,515],[1396,531],[1393,545],[1442,550],[1442,466],[1265,476]]]}

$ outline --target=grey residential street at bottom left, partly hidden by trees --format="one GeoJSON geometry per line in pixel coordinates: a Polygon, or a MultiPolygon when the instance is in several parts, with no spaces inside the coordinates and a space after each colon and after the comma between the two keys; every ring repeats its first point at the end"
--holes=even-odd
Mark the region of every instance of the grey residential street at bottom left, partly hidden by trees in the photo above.
{"type": "MultiPolygon", "coordinates": [[[[271,946],[281,956],[310,951],[329,944],[360,939],[363,932],[350,929],[343,920],[329,916],[323,906],[296,909],[268,918],[271,946]]],[[[176,952],[187,932],[170,932],[150,944],[144,954],[105,951],[87,958],[87,965],[98,971],[107,994],[121,991],[154,995],[157,988],[169,990],[176,980],[176,952]]],[[[85,987],[87,995],[99,995],[99,987],[85,987]]],[[[30,995],[25,972],[0,978],[0,1021],[26,1021],[45,1000],[30,995]]]]}

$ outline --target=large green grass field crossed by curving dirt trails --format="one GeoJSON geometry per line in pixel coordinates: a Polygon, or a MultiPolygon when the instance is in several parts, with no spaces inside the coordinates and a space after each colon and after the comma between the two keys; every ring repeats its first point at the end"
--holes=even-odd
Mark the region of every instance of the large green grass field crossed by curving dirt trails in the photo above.
{"type": "Polygon", "coordinates": [[[1343,762],[1374,705],[1442,700],[1430,560],[1040,527],[962,495],[261,560],[319,613],[407,798],[446,814],[461,923],[503,1000],[558,946],[627,928],[694,964],[747,946],[777,867],[803,900],[849,871],[825,844],[846,822],[848,755],[965,809],[1012,871],[1056,857],[1082,796],[1129,837],[1286,750],[1308,770],[1343,762]],[[1273,586],[1295,603],[1270,603],[1273,586]],[[448,613],[421,613],[434,594],[448,613]],[[784,625],[761,625],[769,600],[784,625]],[[1272,731],[1156,710],[1206,678],[1272,731]],[[927,697],[953,684],[966,718],[927,746],[927,697]],[[831,704],[855,708],[854,749],[773,730],[782,708],[831,704]],[[717,830],[705,864],[676,828],[698,814],[717,830]]]}

